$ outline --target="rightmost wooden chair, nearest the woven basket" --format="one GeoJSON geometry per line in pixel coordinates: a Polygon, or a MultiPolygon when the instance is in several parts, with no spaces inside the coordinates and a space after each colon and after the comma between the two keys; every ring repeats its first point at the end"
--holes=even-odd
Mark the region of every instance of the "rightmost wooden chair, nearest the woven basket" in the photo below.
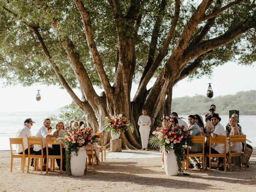
{"type": "MultiPolygon", "coordinates": [[[[232,172],[232,157],[239,157],[239,166],[241,168],[241,156],[243,152],[231,152],[231,143],[234,142],[244,142],[244,146],[246,146],[246,135],[230,135],[229,136],[229,168],[230,172],[232,172]]],[[[245,170],[247,170],[246,165],[244,165],[245,170]]]]}

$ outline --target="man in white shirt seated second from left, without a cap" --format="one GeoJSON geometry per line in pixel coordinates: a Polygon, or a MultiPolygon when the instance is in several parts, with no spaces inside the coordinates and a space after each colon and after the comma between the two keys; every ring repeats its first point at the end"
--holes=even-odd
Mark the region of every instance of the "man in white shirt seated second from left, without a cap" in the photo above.
{"type": "MultiPolygon", "coordinates": [[[[42,126],[38,130],[38,132],[36,133],[36,137],[42,138],[43,153],[44,153],[44,155],[46,155],[46,139],[47,138],[57,138],[58,136],[55,137],[55,136],[52,136],[52,135],[48,134],[47,129],[50,128],[50,125],[51,125],[51,120],[49,118],[46,118],[44,120],[43,124],[44,124],[44,126],[42,126]]],[[[37,155],[41,155],[41,152],[42,152],[41,146],[40,145],[34,145],[34,152],[37,155]]],[[[48,148],[48,153],[49,153],[49,155],[59,155],[59,154],[56,154],[54,152],[54,150],[52,150],[51,148],[48,148]]],[[[56,162],[57,162],[58,166],[60,166],[60,159],[56,159],[56,162]]],[[[46,169],[46,158],[44,159],[44,164],[43,164],[43,170],[45,170],[45,169],[46,169]]],[[[62,170],[66,171],[66,161],[63,161],[62,170]]]]}

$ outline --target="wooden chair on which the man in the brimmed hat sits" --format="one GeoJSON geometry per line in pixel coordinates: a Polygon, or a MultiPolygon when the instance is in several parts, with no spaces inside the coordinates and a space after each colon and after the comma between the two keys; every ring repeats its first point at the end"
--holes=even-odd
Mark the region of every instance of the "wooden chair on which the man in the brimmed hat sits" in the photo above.
{"type": "Polygon", "coordinates": [[[225,168],[225,173],[227,172],[227,168],[226,168],[226,146],[227,146],[227,136],[217,136],[215,138],[213,138],[212,136],[210,136],[210,142],[209,142],[209,146],[212,146],[213,143],[218,143],[218,144],[224,144],[224,153],[223,154],[216,154],[216,153],[211,153],[211,147],[209,149],[209,153],[206,154],[206,158],[205,158],[205,165],[207,164],[207,156],[209,157],[209,168],[210,171],[212,169],[212,164],[211,164],[211,157],[222,157],[224,158],[224,168],[225,168]]]}

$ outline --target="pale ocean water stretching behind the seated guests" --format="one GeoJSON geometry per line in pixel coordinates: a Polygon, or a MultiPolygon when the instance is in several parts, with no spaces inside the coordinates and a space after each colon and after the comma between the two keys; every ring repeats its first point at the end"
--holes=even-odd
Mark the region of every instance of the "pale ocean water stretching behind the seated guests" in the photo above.
{"type": "MultiPolygon", "coordinates": [[[[57,115],[57,112],[0,112],[0,150],[10,150],[10,137],[16,137],[18,129],[23,128],[23,122],[26,118],[32,118],[36,123],[31,128],[33,136],[43,126],[43,121],[49,116],[57,115]]],[[[182,115],[184,121],[188,122],[188,115],[182,115]]],[[[204,116],[203,116],[204,117],[204,116]]],[[[220,124],[224,127],[228,123],[229,117],[220,116],[222,120],[220,124]]],[[[240,116],[239,124],[242,126],[242,132],[246,134],[246,138],[252,143],[247,142],[253,147],[256,147],[256,116],[240,116]]],[[[55,125],[52,125],[54,128],[55,125]]],[[[65,125],[67,126],[67,125],[65,125]]]]}

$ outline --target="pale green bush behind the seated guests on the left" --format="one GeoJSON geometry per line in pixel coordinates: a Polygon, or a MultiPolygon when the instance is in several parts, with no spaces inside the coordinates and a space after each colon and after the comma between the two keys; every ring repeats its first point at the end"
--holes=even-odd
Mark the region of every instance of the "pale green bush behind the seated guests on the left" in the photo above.
{"type": "Polygon", "coordinates": [[[59,114],[57,116],[51,116],[50,119],[53,125],[60,121],[63,122],[64,125],[68,125],[71,120],[75,120],[77,122],[83,121],[84,123],[86,122],[82,110],[76,105],[75,102],[60,108],[59,114]]]}

